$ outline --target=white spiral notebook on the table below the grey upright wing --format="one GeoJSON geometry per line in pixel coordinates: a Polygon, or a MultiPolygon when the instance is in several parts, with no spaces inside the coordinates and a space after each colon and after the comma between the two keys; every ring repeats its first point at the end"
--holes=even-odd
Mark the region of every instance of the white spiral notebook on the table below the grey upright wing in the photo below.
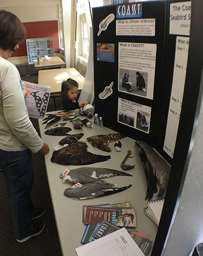
{"type": "Polygon", "coordinates": [[[164,198],[159,200],[150,200],[147,203],[150,214],[153,216],[153,219],[157,225],[161,218],[162,208],[164,205],[164,198]]]}

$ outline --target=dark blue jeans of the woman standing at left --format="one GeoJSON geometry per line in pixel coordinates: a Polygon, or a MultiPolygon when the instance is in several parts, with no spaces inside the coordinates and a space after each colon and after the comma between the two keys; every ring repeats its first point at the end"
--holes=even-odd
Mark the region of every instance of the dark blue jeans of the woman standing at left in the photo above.
{"type": "Polygon", "coordinates": [[[11,200],[15,238],[22,240],[33,229],[31,220],[35,209],[30,197],[33,186],[32,152],[0,149],[0,168],[11,200]]]}

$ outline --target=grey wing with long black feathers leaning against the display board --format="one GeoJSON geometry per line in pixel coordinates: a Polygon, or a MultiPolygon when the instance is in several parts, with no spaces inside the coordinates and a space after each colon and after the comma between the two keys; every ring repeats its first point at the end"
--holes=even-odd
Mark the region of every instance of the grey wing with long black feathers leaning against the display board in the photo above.
{"type": "Polygon", "coordinates": [[[154,193],[157,193],[157,181],[160,184],[157,196],[162,196],[168,185],[170,166],[144,141],[138,140],[135,144],[137,146],[137,151],[141,158],[147,180],[145,200],[147,198],[150,200],[153,198],[154,193]]]}

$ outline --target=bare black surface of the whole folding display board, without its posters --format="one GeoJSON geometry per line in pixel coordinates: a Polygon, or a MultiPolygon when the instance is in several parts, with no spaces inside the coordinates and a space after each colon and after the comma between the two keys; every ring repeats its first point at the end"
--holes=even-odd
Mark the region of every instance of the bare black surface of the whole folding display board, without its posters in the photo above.
{"type": "MultiPolygon", "coordinates": [[[[105,126],[123,133],[131,138],[144,140],[154,146],[164,158],[171,163],[171,174],[165,197],[160,225],[151,256],[160,256],[164,244],[167,243],[167,233],[172,225],[175,206],[179,202],[182,187],[187,172],[187,166],[193,145],[193,136],[200,103],[202,88],[200,80],[203,65],[203,2],[192,0],[191,32],[187,73],[182,100],[179,130],[177,132],[173,159],[164,152],[164,139],[167,127],[169,104],[171,100],[172,81],[177,34],[170,30],[170,5],[185,1],[152,1],[142,3],[142,18],[156,18],[155,36],[119,36],[116,35],[116,18],[109,24],[108,29],[98,36],[99,24],[109,14],[116,17],[116,6],[93,9],[93,39],[94,39],[94,82],[95,82],[95,111],[103,116],[105,126]],[[119,42],[140,42],[157,44],[156,71],[154,80],[154,97],[147,99],[135,94],[118,90],[118,44],[119,42]],[[115,44],[114,62],[97,59],[97,43],[115,44]],[[99,94],[113,84],[113,93],[105,100],[99,94]],[[151,107],[149,133],[144,133],[118,122],[118,98],[137,102],[151,107]]],[[[136,2],[137,4],[137,2],[136,2]]],[[[138,3],[139,4],[139,3],[138,3]]],[[[175,5],[174,5],[175,6],[175,5]]],[[[178,17],[178,16],[177,16],[178,17]]],[[[182,17],[184,20],[184,17],[182,17]]]]}

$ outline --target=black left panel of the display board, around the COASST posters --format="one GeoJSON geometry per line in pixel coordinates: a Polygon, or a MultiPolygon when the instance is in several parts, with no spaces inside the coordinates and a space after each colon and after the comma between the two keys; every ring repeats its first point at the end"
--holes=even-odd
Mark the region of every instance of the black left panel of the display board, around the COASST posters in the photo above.
{"type": "MultiPolygon", "coordinates": [[[[144,140],[151,146],[156,147],[157,140],[159,139],[159,119],[160,110],[163,96],[163,89],[170,91],[171,84],[168,84],[168,88],[163,88],[163,75],[165,64],[165,48],[167,38],[167,18],[168,13],[166,2],[143,2],[142,3],[142,19],[155,18],[156,19],[156,34],[155,36],[130,36],[130,35],[117,35],[116,36],[116,18],[108,26],[108,29],[102,31],[97,36],[100,22],[109,14],[114,14],[116,17],[116,6],[107,6],[102,8],[93,9],[93,44],[94,44],[94,93],[95,93],[95,113],[103,117],[104,125],[111,129],[118,131],[133,139],[144,140]],[[119,42],[140,43],[143,44],[156,44],[156,69],[154,80],[154,97],[148,99],[146,97],[140,97],[134,93],[128,94],[118,90],[118,84],[120,83],[118,77],[118,45],[119,42]],[[108,43],[115,45],[115,58],[114,62],[99,61],[97,59],[96,45],[99,43],[108,43]],[[99,98],[99,94],[105,90],[105,87],[110,86],[113,83],[113,93],[104,99],[99,98]],[[150,113],[150,129],[149,133],[145,133],[141,130],[134,129],[130,125],[123,125],[118,122],[118,98],[122,98],[128,101],[133,101],[142,105],[147,105],[151,108],[150,113]]],[[[130,71],[131,77],[136,79],[136,70],[130,71]]],[[[124,70],[123,70],[124,72],[124,70]]],[[[140,72],[141,73],[141,72],[140,72]]],[[[133,79],[133,78],[132,78],[133,79]]],[[[134,120],[136,121],[136,120],[134,120]]],[[[162,118],[162,122],[166,122],[162,118]]],[[[165,131],[164,131],[165,132],[165,131]]]]}

